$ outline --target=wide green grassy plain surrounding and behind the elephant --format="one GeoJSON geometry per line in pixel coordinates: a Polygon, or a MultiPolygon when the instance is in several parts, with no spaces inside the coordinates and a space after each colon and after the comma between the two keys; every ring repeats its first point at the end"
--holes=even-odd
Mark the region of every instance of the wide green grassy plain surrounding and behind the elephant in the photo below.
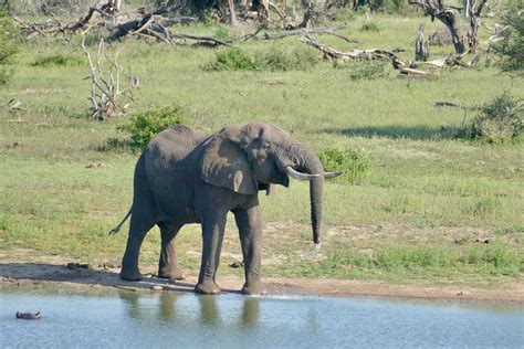
{"type": "MultiPolygon", "coordinates": [[[[340,30],[360,44],[317,35],[339,49],[402,47],[413,57],[421,21],[370,17],[377,30],[363,30],[366,17],[340,15],[340,30]]],[[[439,29],[426,19],[427,32],[439,29]]],[[[186,33],[240,36],[252,28],[193,24],[186,33]]],[[[481,32],[481,42],[488,32],[481,32]]],[[[357,149],[369,170],[356,183],[325,186],[321,255],[312,248],[308,186],[262,198],[266,222],[264,275],[335,277],[395,283],[471,284],[496,287],[522,282],[524,269],[524,156],[522,141],[486,144],[457,139],[476,110],[436,107],[436,102],[479,106],[510,89],[524,97],[522,78],[485,66],[430,71],[427,80],[358,75],[363,63],[334,64],[291,36],[276,42],[238,42],[253,55],[293,51],[312,63],[298,70],[217,71],[209,66],[229,49],[149,45],[130,41],[122,53],[140,87],[127,115],[108,121],[86,115],[91,84],[81,39],[38,39],[24,43],[14,59],[14,75],[0,86],[0,255],[2,261],[55,256],[92,265],[118,264],[126,228],[107,233],[127,212],[138,155],[125,146],[116,127],[129,114],[179,105],[187,124],[211,133],[230,124],[274,124],[317,152],[357,149]],[[35,64],[53,55],[65,63],[35,64]],[[4,105],[10,99],[22,109],[4,105]],[[108,142],[108,139],[118,139],[108,142]],[[17,146],[15,142],[21,142],[17,146]],[[124,146],[123,146],[124,145],[124,146]],[[102,163],[87,168],[90,163],[102,163]]],[[[95,42],[95,40],[93,40],[95,42]]],[[[95,50],[93,44],[91,50],[95,50]]],[[[113,50],[113,49],[109,49],[113,50]]],[[[442,57],[451,45],[432,46],[442,57]]],[[[382,70],[380,67],[380,70],[382,70]]],[[[261,195],[262,197],[262,195],[261,195]]],[[[234,223],[228,224],[219,274],[241,260],[234,223]]],[[[155,271],[159,233],[146,237],[144,269],[155,271]]],[[[179,257],[189,274],[200,263],[199,226],[178,237],[179,257]]]]}

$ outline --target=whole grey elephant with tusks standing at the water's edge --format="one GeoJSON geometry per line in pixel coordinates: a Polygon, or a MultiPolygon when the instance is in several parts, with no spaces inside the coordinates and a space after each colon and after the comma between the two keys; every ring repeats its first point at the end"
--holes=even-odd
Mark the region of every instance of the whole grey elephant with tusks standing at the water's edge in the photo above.
{"type": "Polygon", "coordinates": [[[325,173],[318,158],[277,127],[251,124],[226,127],[208,137],[177,125],[159,133],[137,161],[129,235],[120,278],[142,279],[138,254],[146,233],[157,224],[161,234],[158,276],[184,278],[175,241],[188,223],[202,226],[202,261],[196,292],[218,294],[216,283],[228,212],[234,214],[244,260],[245,294],[264,293],[261,282],[262,218],[260,190],[289,187],[289,176],[311,181],[313,241],[319,244],[325,173]]]}

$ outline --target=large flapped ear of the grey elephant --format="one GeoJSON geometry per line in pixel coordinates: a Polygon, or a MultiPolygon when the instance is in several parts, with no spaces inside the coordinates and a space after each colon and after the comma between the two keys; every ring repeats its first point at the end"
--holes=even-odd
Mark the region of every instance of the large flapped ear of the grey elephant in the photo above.
{"type": "Polygon", "coordinates": [[[259,190],[248,157],[228,131],[214,135],[207,144],[200,178],[209,184],[241,194],[254,194],[259,190]]]}

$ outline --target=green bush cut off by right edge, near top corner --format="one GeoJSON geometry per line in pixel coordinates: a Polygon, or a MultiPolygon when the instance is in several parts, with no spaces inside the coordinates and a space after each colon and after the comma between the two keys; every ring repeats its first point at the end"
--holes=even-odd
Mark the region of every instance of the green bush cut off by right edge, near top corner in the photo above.
{"type": "Polygon", "coordinates": [[[502,18],[505,25],[502,40],[492,50],[501,56],[499,65],[504,72],[524,73],[524,11],[507,11],[502,18]]]}

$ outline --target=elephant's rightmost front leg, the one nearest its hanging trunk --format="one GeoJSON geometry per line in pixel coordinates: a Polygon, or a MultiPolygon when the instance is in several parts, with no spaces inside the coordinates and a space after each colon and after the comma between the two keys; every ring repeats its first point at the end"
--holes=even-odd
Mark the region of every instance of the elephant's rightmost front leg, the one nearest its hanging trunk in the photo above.
{"type": "Polygon", "coordinates": [[[245,284],[242,293],[248,295],[265,294],[265,285],[261,281],[262,262],[262,215],[256,204],[250,209],[234,211],[239,228],[240,244],[244,257],[245,284]]]}

